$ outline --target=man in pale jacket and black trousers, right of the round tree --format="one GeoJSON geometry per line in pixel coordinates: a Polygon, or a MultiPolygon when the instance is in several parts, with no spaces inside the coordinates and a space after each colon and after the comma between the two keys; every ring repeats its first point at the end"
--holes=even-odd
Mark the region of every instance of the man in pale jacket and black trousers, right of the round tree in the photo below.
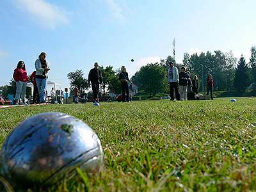
{"type": "Polygon", "coordinates": [[[179,93],[179,70],[177,67],[173,66],[173,62],[169,61],[169,68],[168,68],[168,82],[170,86],[170,100],[174,100],[174,91],[176,100],[180,100],[180,93],[179,93]]]}

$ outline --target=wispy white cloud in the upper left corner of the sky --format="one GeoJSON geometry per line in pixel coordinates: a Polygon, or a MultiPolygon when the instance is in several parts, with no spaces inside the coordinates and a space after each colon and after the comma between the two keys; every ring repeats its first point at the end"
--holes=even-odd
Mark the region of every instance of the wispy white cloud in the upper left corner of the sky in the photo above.
{"type": "Polygon", "coordinates": [[[29,13],[31,19],[47,28],[55,29],[56,26],[68,22],[64,10],[45,0],[15,0],[15,4],[20,10],[29,13]]]}

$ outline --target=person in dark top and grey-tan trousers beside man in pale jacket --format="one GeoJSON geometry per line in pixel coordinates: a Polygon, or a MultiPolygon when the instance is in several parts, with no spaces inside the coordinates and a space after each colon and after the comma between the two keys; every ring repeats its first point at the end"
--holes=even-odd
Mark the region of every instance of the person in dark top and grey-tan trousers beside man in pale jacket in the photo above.
{"type": "Polygon", "coordinates": [[[186,67],[181,67],[181,72],[179,73],[179,91],[180,91],[180,100],[187,99],[188,91],[188,74],[186,73],[186,67]]]}

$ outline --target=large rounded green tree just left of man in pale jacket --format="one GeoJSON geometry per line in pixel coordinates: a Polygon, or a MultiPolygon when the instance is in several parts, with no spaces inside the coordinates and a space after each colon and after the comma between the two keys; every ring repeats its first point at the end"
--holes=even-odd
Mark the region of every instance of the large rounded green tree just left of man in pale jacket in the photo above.
{"type": "Polygon", "coordinates": [[[150,94],[150,97],[156,93],[167,91],[167,73],[163,65],[159,63],[150,63],[140,68],[132,80],[140,82],[141,90],[150,94]]]}

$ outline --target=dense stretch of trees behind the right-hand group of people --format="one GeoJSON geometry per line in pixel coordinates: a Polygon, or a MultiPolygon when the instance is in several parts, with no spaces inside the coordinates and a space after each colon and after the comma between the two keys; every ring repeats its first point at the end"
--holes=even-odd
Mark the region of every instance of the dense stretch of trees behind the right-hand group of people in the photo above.
{"type": "Polygon", "coordinates": [[[229,52],[201,52],[200,54],[184,53],[182,63],[176,63],[172,56],[168,56],[159,63],[148,63],[140,68],[132,77],[141,91],[149,95],[168,93],[168,61],[173,61],[179,69],[182,66],[193,76],[198,76],[200,92],[206,88],[206,78],[209,74],[214,77],[214,90],[244,92],[251,83],[256,83],[256,47],[250,49],[251,56],[247,62],[241,55],[237,58],[229,52]]]}

